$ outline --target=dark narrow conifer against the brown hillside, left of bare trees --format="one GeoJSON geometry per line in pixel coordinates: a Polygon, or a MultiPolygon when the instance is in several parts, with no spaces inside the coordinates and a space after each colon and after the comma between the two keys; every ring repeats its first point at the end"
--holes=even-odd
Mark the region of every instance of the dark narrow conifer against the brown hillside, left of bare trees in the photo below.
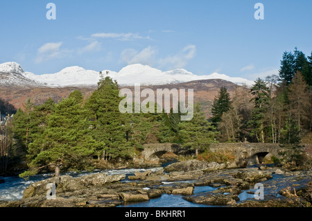
{"type": "Polygon", "coordinates": [[[212,104],[212,125],[216,127],[218,126],[218,123],[221,121],[223,113],[229,111],[231,104],[231,98],[229,96],[229,93],[227,92],[226,87],[221,87],[220,91],[218,91],[218,96],[214,98],[214,103],[212,104]]]}

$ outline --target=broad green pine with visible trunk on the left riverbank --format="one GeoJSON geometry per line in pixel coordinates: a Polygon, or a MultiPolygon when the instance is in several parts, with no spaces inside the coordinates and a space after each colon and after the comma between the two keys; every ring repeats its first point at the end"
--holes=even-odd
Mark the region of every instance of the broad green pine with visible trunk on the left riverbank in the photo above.
{"type": "Polygon", "coordinates": [[[41,168],[52,166],[55,176],[62,170],[91,169],[90,158],[96,141],[89,135],[87,110],[82,107],[82,94],[73,92],[69,98],[55,105],[55,112],[48,116],[44,132],[28,146],[29,170],[21,177],[28,177],[41,168]]]}

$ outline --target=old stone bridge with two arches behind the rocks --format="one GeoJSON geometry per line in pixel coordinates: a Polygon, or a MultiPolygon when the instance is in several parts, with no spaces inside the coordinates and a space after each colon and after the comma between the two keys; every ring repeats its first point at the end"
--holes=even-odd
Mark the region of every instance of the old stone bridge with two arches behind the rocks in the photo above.
{"type": "MultiPolygon", "coordinates": [[[[279,158],[279,152],[284,152],[286,149],[279,147],[278,143],[215,143],[210,145],[209,150],[231,154],[235,157],[233,163],[236,166],[250,166],[261,164],[265,157],[279,158]]],[[[145,161],[157,161],[166,152],[186,153],[178,144],[150,143],[144,145],[144,151],[141,154],[145,161]]]]}

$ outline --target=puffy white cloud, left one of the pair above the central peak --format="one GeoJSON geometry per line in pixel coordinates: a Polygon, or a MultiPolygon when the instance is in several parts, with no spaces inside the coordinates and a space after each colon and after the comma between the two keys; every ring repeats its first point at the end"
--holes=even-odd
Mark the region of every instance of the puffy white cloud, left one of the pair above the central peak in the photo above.
{"type": "Polygon", "coordinates": [[[125,49],[121,52],[121,60],[127,64],[153,65],[157,48],[148,46],[138,52],[135,49],[125,49]]]}

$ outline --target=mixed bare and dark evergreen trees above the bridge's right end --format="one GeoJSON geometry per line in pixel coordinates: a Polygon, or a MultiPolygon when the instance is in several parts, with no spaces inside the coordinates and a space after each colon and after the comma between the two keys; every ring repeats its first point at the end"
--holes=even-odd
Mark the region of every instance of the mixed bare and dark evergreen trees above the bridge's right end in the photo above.
{"type": "Polygon", "coordinates": [[[211,112],[220,141],[300,143],[312,130],[312,53],[285,51],[279,76],[243,85],[232,98],[222,87],[211,112]]]}

